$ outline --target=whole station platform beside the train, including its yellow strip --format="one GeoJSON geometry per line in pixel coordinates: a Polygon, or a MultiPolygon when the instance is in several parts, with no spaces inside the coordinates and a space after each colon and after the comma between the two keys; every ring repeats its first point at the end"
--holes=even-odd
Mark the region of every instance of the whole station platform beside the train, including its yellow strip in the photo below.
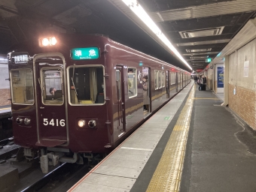
{"type": "Polygon", "coordinates": [[[254,131],[190,83],[68,191],[256,191],[254,131]]]}

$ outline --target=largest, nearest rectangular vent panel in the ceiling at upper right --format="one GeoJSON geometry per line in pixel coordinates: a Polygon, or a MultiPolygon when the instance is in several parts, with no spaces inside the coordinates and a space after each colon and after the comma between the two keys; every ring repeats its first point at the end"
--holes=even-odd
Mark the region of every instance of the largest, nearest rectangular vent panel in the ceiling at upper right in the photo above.
{"type": "Polygon", "coordinates": [[[203,28],[193,31],[179,31],[182,38],[215,36],[222,33],[224,26],[216,28],[203,28]]]}

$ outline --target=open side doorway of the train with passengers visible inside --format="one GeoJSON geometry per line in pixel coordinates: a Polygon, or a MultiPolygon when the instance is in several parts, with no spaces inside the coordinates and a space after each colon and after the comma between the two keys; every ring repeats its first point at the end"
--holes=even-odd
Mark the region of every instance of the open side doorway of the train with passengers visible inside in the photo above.
{"type": "Polygon", "coordinates": [[[151,69],[142,67],[143,115],[151,113],[151,69]]]}

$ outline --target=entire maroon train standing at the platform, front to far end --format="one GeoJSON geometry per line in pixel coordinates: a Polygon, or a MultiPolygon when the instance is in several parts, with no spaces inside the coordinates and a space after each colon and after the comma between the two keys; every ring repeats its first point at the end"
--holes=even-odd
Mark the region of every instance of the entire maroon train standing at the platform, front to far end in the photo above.
{"type": "Polygon", "coordinates": [[[99,35],[41,37],[12,50],[14,141],[28,159],[39,154],[44,172],[111,151],[190,82],[187,71],[99,35]]]}

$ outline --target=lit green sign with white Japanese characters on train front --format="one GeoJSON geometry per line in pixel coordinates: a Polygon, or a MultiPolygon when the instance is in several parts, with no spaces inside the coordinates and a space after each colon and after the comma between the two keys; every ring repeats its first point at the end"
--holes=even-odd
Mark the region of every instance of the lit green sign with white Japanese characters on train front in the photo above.
{"type": "Polygon", "coordinates": [[[71,49],[71,58],[73,60],[87,60],[99,58],[99,48],[87,47],[71,49]]]}

